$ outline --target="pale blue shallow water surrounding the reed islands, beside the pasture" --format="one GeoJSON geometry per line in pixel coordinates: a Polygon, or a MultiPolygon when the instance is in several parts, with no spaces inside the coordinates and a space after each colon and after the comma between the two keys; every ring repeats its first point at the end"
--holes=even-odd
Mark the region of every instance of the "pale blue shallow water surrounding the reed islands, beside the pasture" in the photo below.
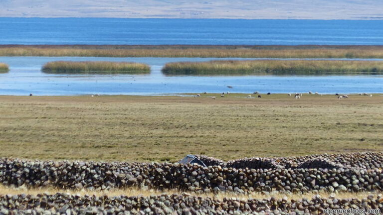
{"type": "Polygon", "coordinates": [[[161,73],[168,62],[208,60],[216,58],[0,57],[0,62],[10,66],[8,73],[0,74],[0,95],[164,95],[205,91],[383,93],[383,76],[164,76],[161,73]],[[44,63],[56,60],[134,61],[149,64],[152,71],[150,75],[57,75],[40,71],[44,63]]]}

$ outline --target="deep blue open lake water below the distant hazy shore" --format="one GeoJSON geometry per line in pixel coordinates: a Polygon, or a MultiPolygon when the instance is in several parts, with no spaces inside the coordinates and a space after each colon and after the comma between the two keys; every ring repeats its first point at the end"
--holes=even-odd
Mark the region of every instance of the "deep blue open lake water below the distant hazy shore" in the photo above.
{"type": "Polygon", "coordinates": [[[0,17],[0,44],[383,45],[383,20],[0,17]]]}

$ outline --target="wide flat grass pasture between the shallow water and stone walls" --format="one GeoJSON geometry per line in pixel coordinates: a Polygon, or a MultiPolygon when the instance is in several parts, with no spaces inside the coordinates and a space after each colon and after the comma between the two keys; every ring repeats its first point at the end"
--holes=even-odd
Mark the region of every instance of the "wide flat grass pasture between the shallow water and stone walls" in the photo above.
{"type": "Polygon", "coordinates": [[[0,96],[0,157],[173,162],[383,151],[382,95],[246,96],[0,96]]]}

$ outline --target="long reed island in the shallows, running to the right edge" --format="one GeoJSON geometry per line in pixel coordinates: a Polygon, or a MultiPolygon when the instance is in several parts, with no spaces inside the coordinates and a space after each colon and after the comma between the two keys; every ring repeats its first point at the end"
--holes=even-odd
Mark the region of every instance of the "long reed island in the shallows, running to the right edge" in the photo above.
{"type": "Polygon", "coordinates": [[[247,60],[168,63],[165,75],[377,75],[383,62],[333,60],[247,60]]]}

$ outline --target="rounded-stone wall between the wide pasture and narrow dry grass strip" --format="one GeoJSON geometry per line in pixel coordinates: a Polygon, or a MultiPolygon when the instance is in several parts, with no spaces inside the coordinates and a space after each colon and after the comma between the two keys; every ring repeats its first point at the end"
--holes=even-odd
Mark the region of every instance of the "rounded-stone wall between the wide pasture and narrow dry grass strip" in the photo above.
{"type": "MultiPolygon", "coordinates": [[[[308,192],[312,190],[383,190],[381,157],[345,154],[348,166],[335,163],[341,155],[307,157],[283,166],[282,159],[240,159],[208,167],[179,163],[69,162],[0,159],[0,183],[4,186],[56,187],[63,189],[153,188],[202,192],[308,192]],[[332,158],[332,159],[331,159],[332,158]],[[370,160],[369,160],[370,159],[370,160]],[[363,165],[358,161],[363,160],[363,165]],[[298,162],[299,161],[299,162],[298,162]],[[373,165],[366,165],[371,162],[373,165]],[[375,164],[376,163],[376,164],[375,164]]],[[[380,154],[380,156],[382,156],[380,154]]],[[[205,159],[205,158],[203,158],[205,159]]],[[[206,160],[206,159],[205,159],[206,160]]],[[[220,162],[220,161],[219,161],[220,162]]]]}

